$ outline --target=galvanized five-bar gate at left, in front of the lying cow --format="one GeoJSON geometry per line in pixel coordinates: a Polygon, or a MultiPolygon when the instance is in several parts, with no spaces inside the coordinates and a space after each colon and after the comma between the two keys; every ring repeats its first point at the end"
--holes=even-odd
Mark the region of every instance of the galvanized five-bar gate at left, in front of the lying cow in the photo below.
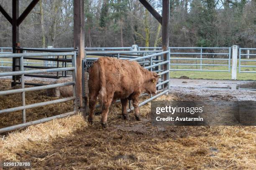
{"type": "Polygon", "coordinates": [[[76,80],[75,80],[76,79],[76,52],[0,54],[0,58],[13,58],[13,57],[20,59],[20,71],[0,72],[0,77],[21,75],[21,78],[20,78],[21,88],[0,91],[0,95],[10,95],[10,94],[15,94],[15,93],[21,93],[22,94],[22,106],[0,110],[0,115],[3,113],[10,113],[10,112],[22,110],[23,123],[18,124],[18,125],[13,125],[10,127],[1,128],[0,133],[4,133],[4,132],[10,131],[10,130],[15,130],[18,128],[27,127],[29,125],[47,122],[47,121],[53,120],[55,118],[61,118],[61,117],[66,117],[68,115],[74,115],[77,113],[77,97],[76,97],[76,86],[75,86],[75,82],[76,82],[76,80]],[[24,70],[23,57],[44,57],[44,56],[56,56],[56,55],[71,55],[72,56],[72,67],[50,68],[50,69],[40,69],[40,70],[24,70]],[[38,74],[38,73],[48,73],[48,72],[58,72],[58,71],[72,71],[72,77],[73,77],[72,82],[59,83],[59,84],[53,84],[53,85],[43,85],[43,86],[38,86],[38,87],[25,87],[25,80],[24,80],[25,74],[38,74]],[[26,103],[25,103],[25,92],[35,91],[35,90],[44,90],[44,89],[69,86],[69,85],[73,86],[73,97],[66,97],[66,98],[61,98],[58,100],[40,102],[40,103],[31,104],[31,105],[26,105],[26,103]],[[59,103],[59,102],[67,102],[70,100],[74,101],[74,111],[67,112],[67,113],[64,113],[61,115],[55,115],[52,117],[46,117],[46,118],[39,119],[39,120],[34,120],[31,122],[26,122],[26,109],[31,109],[34,107],[41,107],[44,105],[50,105],[50,104],[55,104],[55,103],[59,103]]]}

